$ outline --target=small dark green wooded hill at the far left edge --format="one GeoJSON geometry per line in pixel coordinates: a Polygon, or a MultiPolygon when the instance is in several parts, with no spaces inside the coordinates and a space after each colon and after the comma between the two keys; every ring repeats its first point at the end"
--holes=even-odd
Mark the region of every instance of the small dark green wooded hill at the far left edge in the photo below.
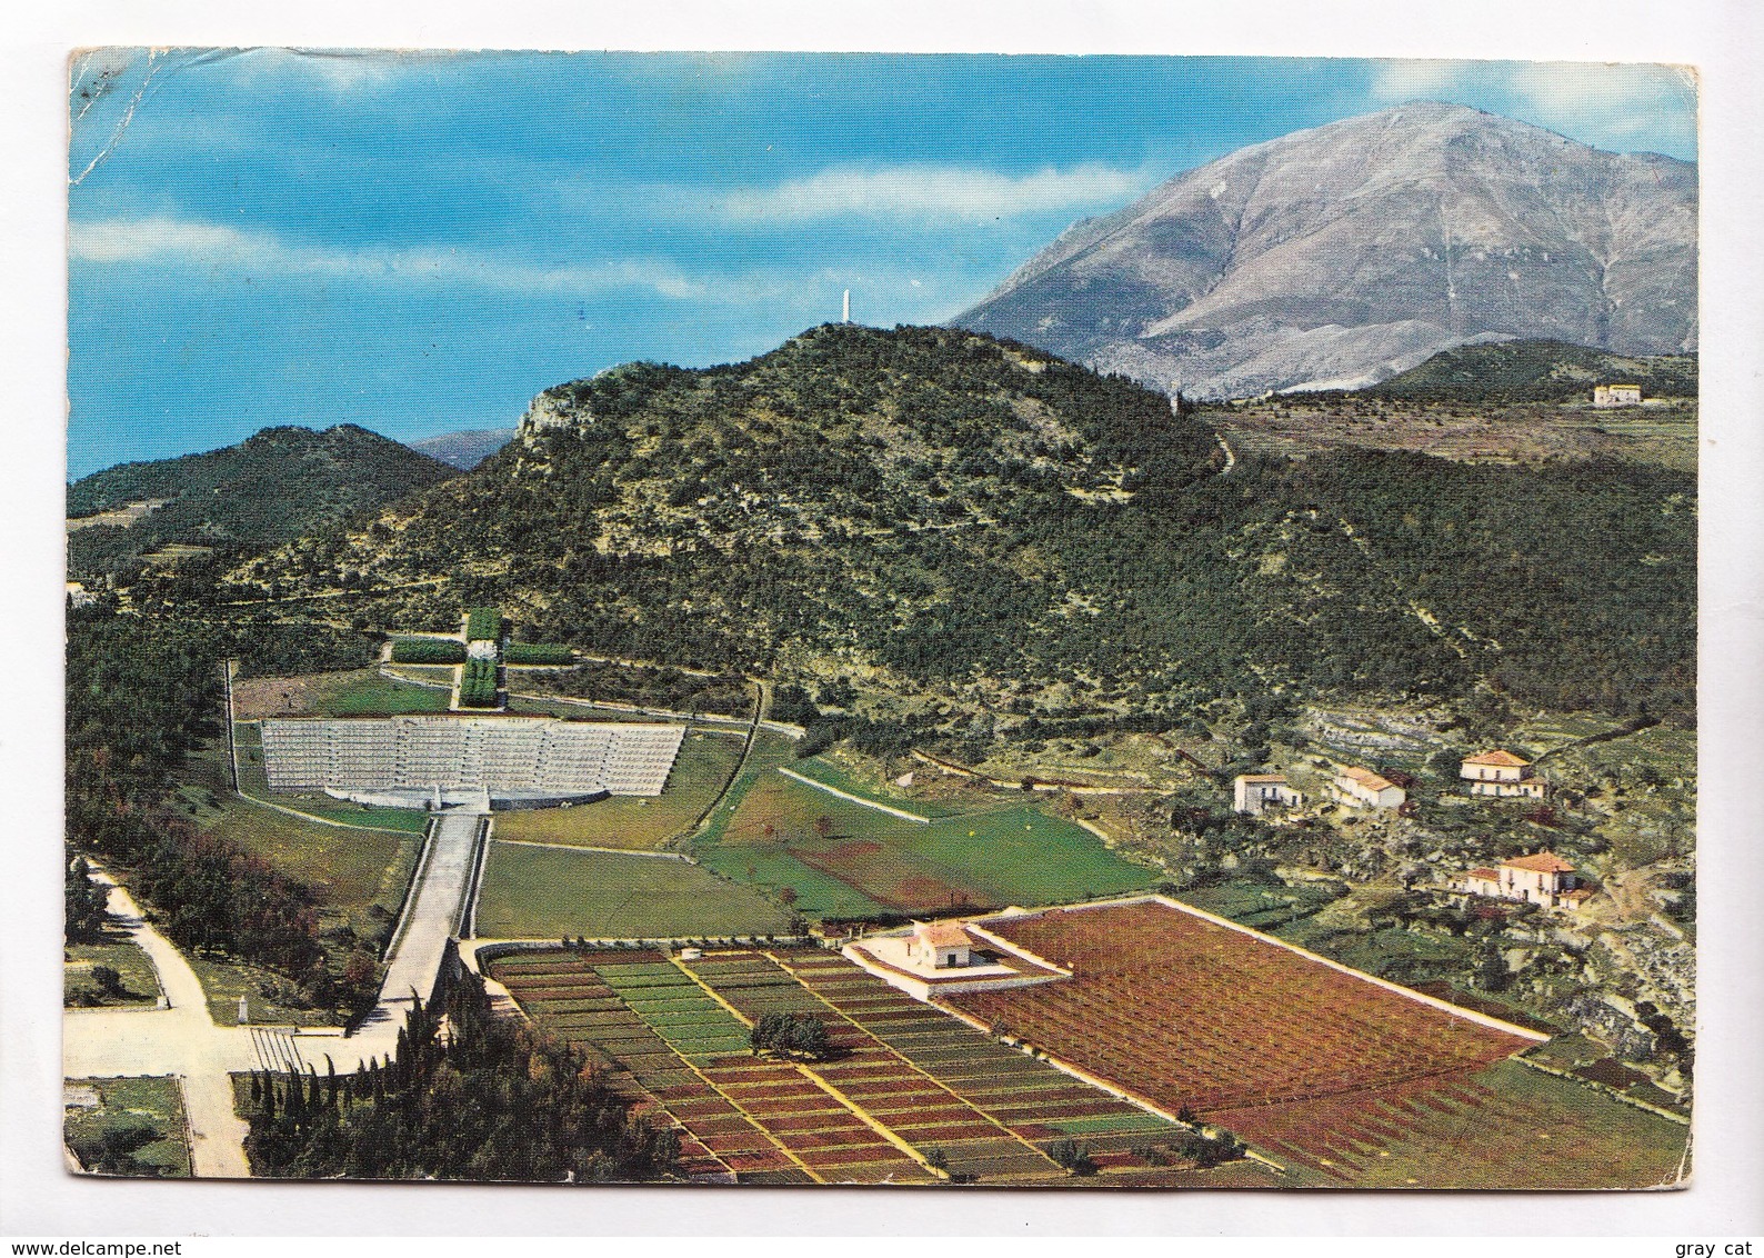
{"type": "Polygon", "coordinates": [[[169,543],[277,545],[455,475],[355,423],[263,429],[220,450],[116,464],[67,487],[69,570],[95,575],[169,543]],[[131,503],[155,506],[123,512],[131,503]]]}

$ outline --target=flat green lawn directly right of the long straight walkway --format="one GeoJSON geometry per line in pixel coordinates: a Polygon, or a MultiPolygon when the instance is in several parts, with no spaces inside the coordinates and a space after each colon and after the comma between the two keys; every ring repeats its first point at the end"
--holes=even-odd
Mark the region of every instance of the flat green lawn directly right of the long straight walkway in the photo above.
{"type": "Polygon", "coordinates": [[[478,900],[487,939],[773,935],[790,914],[686,861],[490,843],[478,900]]]}

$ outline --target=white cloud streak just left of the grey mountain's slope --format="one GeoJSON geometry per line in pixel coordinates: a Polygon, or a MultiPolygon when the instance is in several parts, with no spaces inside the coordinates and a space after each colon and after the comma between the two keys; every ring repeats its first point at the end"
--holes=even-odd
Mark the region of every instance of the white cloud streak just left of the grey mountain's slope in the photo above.
{"type": "Polygon", "coordinates": [[[963,166],[833,166],[773,187],[697,192],[690,199],[744,224],[847,217],[974,221],[1118,205],[1154,182],[1145,171],[1097,164],[1030,175],[963,166]]]}

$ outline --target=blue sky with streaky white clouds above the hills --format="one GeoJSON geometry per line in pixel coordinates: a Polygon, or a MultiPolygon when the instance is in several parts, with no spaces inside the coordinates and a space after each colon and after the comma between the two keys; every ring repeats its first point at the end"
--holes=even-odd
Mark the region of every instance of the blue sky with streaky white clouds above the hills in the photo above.
{"type": "Polygon", "coordinates": [[[1411,99],[1695,161],[1665,67],[99,51],[69,155],[69,475],[512,425],[632,358],[935,323],[1076,219],[1411,99]]]}

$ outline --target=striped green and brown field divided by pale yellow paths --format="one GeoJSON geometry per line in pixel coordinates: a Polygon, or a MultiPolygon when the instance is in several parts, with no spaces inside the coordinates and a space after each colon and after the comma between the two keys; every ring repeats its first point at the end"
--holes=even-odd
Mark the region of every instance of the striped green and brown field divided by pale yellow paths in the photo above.
{"type": "Polygon", "coordinates": [[[492,974],[743,1180],[1083,1182],[1046,1152],[1076,1138],[1085,1170],[1108,1182],[1272,1182],[1245,1163],[1200,1172],[1162,1152],[1152,1161],[1185,1129],[1002,1048],[834,953],[727,949],[674,963],[556,951],[499,960],[492,974]],[[833,1053],[753,1057],[748,1027],[766,1013],[822,1020],[833,1053]]]}

